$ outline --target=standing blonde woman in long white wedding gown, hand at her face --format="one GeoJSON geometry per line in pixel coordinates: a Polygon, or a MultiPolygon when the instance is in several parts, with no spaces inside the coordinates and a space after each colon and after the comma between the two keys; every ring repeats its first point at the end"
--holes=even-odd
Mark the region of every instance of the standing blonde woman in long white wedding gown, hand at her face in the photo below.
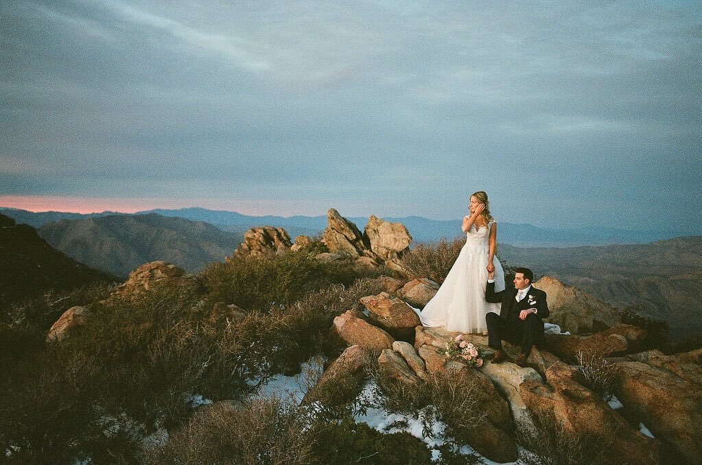
{"type": "Polygon", "coordinates": [[[496,292],[505,288],[505,274],[495,257],[497,224],[488,207],[484,191],[470,196],[470,215],[463,217],[461,226],[465,245],[439,291],[420,312],[422,325],[487,334],[485,315],[489,311],[500,313],[500,304],[485,301],[488,272],[495,272],[496,292]]]}

